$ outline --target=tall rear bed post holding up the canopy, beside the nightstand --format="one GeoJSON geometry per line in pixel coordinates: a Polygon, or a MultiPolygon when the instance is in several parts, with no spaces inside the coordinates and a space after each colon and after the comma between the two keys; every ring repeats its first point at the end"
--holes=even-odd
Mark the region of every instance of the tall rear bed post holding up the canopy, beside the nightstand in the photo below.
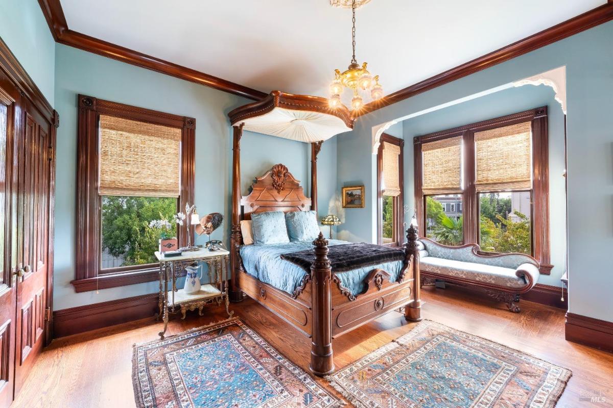
{"type": "Polygon", "coordinates": [[[232,127],[234,141],[232,142],[232,232],[230,233],[230,293],[232,302],[243,300],[243,292],[238,287],[237,277],[240,261],[238,247],[243,243],[240,233],[240,138],[243,135],[244,123],[232,127]]]}

